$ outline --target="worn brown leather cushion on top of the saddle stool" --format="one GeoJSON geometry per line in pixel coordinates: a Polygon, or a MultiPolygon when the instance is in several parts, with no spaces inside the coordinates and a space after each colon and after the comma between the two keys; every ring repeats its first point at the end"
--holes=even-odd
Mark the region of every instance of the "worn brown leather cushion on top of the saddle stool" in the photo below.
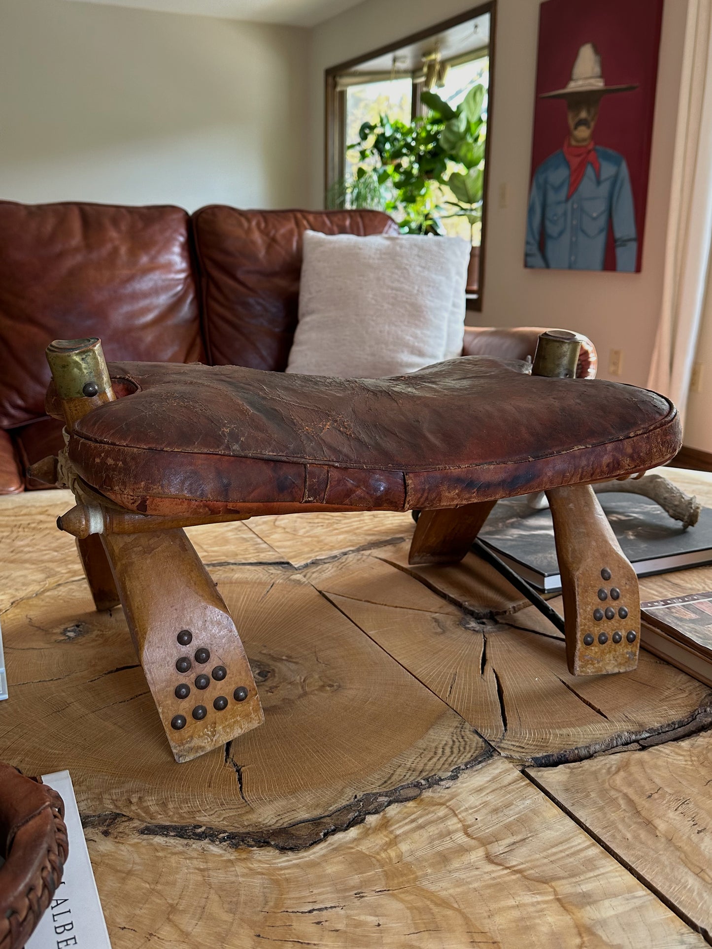
{"type": "Polygon", "coordinates": [[[452,507],[638,472],[680,447],[661,396],[491,357],[381,380],[109,368],[136,391],[81,419],[69,456],[146,513],[452,507]]]}

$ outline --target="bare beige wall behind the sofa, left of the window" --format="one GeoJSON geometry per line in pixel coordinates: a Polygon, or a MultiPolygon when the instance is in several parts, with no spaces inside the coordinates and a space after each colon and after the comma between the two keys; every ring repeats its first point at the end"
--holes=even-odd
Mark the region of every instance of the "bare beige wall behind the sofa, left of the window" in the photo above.
{"type": "Polygon", "coordinates": [[[0,0],[0,197],[305,204],[309,32],[0,0]]]}

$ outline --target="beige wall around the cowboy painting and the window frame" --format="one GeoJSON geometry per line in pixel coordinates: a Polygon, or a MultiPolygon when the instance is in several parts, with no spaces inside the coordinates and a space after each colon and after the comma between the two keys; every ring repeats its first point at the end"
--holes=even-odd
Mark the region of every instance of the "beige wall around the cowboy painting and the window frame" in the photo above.
{"type": "MultiPolygon", "coordinates": [[[[314,29],[310,73],[311,200],[323,190],[324,69],[408,32],[472,9],[462,0],[365,0],[314,29]]],[[[623,381],[645,384],[663,278],[665,223],[672,167],[686,0],[666,0],[648,189],[643,271],[587,273],[525,270],[522,265],[532,147],[539,0],[498,0],[484,325],[565,326],[590,336],[608,377],[609,349],[623,350],[623,381]],[[498,207],[500,185],[508,205],[498,207]]],[[[605,64],[604,64],[605,65],[605,64]]]]}

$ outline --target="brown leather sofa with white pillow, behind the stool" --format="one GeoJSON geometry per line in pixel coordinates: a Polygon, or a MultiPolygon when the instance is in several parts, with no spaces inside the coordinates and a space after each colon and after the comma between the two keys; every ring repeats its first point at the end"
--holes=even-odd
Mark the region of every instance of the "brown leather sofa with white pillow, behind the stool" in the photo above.
{"type": "MultiPolygon", "coordinates": [[[[169,206],[0,202],[0,494],[46,488],[28,466],[62,447],[45,411],[54,339],[99,336],[112,361],[283,371],[297,322],[301,235],[397,233],[375,211],[195,214],[169,206]]],[[[538,327],[467,328],[465,355],[524,359],[538,327]]],[[[578,374],[595,373],[582,347],[578,374]]]]}

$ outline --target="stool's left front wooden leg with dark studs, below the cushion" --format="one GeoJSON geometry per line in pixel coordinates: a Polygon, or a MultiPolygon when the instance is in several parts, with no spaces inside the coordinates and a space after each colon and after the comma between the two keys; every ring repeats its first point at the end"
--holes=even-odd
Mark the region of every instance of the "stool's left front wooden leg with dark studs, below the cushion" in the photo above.
{"type": "Polygon", "coordinates": [[[233,619],[185,532],[101,537],[176,760],[261,725],[262,705],[233,619]]]}

